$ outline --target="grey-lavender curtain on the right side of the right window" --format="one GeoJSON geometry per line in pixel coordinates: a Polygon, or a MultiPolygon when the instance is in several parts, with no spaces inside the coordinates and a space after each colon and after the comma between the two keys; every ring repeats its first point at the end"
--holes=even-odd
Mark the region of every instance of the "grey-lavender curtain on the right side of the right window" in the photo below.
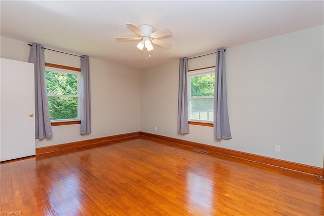
{"type": "Polygon", "coordinates": [[[226,73],[225,73],[225,49],[217,49],[215,87],[214,87],[214,138],[231,139],[229,127],[226,73]]]}

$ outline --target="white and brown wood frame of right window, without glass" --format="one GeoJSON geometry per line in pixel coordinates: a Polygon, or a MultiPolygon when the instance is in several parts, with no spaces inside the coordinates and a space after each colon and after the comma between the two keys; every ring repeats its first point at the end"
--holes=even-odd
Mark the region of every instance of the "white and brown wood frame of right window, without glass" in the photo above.
{"type": "Polygon", "coordinates": [[[197,76],[197,75],[208,75],[208,74],[215,74],[215,76],[216,76],[215,66],[188,70],[188,73],[187,73],[187,83],[188,83],[188,85],[187,85],[187,94],[188,94],[188,122],[189,122],[189,124],[208,126],[208,127],[213,127],[214,126],[214,120],[190,119],[190,108],[191,108],[190,107],[190,101],[191,101],[191,99],[195,99],[195,98],[201,98],[201,99],[213,98],[214,99],[214,96],[191,96],[191,77],[192,76],[197,76]]]}

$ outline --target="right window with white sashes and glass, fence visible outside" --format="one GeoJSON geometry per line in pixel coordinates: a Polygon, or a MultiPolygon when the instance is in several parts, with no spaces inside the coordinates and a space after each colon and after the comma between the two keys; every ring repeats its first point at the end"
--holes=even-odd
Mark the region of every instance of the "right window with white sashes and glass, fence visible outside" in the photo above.
{"type": "Polygon", "coordinates": [[[215,67],[188,71],[188,119],[194,122],[214,120],[215,67]]]}

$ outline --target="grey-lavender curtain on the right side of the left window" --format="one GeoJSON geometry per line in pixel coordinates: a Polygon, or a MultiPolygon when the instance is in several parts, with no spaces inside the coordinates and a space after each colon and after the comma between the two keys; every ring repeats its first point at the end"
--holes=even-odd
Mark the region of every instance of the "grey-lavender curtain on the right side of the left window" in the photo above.
{"type": "Polygon", "coordinates": [[[80,134],[91,133],[89,56],[81,57],[81,126],[80,134]]]}

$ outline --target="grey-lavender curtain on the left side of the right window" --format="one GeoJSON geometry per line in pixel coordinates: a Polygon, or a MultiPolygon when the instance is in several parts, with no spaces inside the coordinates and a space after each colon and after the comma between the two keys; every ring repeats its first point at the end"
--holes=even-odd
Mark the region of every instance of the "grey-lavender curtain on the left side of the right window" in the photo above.
{"type": "Polygon", "coordinates": [[[178,97],[178,133],[189,133],[188,94],[187,94],[188,58],[180,59],[179,97],[178,97]]]}

